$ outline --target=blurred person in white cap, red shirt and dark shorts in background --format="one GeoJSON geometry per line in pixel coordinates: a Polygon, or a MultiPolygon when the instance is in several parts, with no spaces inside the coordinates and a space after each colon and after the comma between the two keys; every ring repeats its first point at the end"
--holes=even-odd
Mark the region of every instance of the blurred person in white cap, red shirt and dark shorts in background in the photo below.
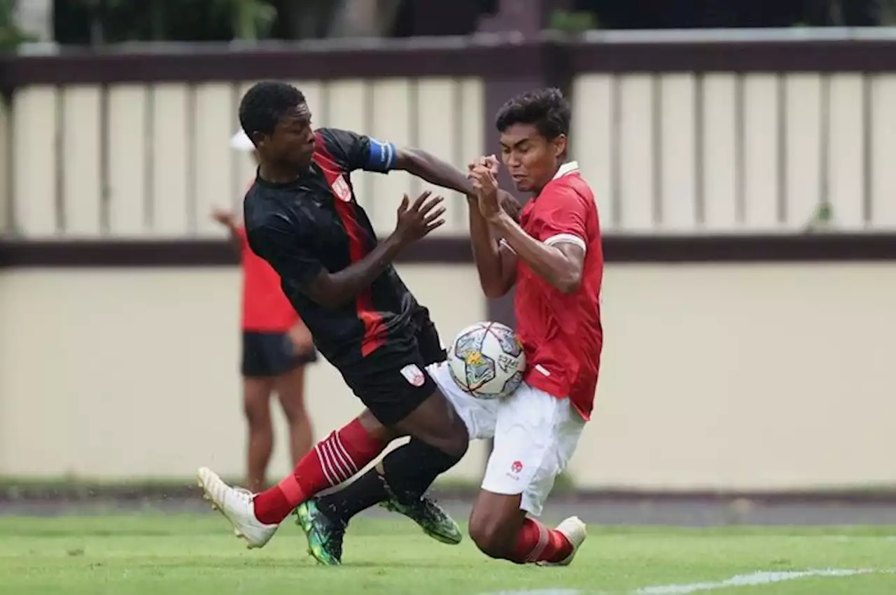
{"type": "MultiPolygon", "coordinates": [[[[252,151],[246,134],[231,139],[237,151],[252,151]]],[[[271,394],[277,393],[289,424],[289,453],[296,464],[314,446],[305,406],[305,366],[317,358],[306,325],[280,289],[280,275],[249,249],[246,230],[233,212],[218,209],[214,220],[226,227],[240,254],[243,272],[243,410],[248,425],[246,487],[263,490],[274,435],[271,394]]]]}

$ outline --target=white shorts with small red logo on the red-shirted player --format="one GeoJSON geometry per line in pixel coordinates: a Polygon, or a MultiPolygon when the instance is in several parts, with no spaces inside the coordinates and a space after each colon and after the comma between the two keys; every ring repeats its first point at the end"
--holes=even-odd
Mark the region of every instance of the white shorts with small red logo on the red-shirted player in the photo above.
{"type": "Polygon", "coordinates": [[[495,438],[482,489],[521,494],[522,510],[540,516],[554,480],[573,458],[585,420],[569,399],[521,384],[506,399],[476,399],[454,383],[447,364],[426,371],[467,425],[470,440],[495,438]]]}

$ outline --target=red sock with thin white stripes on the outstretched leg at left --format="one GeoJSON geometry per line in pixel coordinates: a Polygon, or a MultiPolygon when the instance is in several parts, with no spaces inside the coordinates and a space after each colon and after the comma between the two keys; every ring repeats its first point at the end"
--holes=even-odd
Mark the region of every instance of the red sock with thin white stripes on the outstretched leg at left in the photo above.
{"type": "Polygon", "coordinates": [[[353,419],[315,444],[288,477],[255,496],[255,518],[269,525],[282,522],[293,508],[317,492],[352,478],[384,447],[358,419],[353,419]]]}

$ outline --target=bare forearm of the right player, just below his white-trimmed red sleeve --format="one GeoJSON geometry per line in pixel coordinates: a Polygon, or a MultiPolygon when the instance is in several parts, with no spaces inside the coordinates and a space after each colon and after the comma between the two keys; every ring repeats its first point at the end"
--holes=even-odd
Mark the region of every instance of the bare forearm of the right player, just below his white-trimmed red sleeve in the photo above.
{"type": "Polygon", "coordinates": [[[573,293],[582,283],[584,251],[578,246],[547,246],[531,237],[507,213],[501,212],[490,223],[499,229],[518,258],[529,264],[535,274],[562,293],[573,293]]]}

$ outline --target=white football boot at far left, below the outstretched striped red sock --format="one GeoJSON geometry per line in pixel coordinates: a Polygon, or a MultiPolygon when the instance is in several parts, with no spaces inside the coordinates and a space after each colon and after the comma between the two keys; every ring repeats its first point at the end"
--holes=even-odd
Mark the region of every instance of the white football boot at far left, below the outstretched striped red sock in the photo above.
{"type": "Polygon", "coordinates": [[[211,502],[212,510],[224,515],[233,525],[233,534],[246,541],[248,548],[263,548],[271,540],[280,525],[267,525],[255,518],[252,492],[228,486],[207,467],[197,471],[196,477],[202,487],[202,497],[211,502]]]}

